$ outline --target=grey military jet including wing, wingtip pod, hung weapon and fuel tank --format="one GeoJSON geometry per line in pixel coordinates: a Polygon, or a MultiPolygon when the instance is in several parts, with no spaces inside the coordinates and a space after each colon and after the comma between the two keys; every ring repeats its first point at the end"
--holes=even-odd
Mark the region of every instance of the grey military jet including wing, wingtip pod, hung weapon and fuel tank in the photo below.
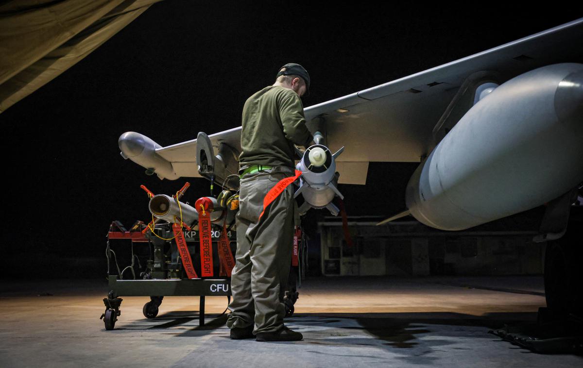
{"type": "MultiPolygon", "coordinates": [[[[582,44],[577,19],[305,108],[308,128],[322,136],[298,164],[310,171],[298,190],[308,203],[303,211],[335,213],[329,204],[341,195],[336,181],[366,183],[369,162],[420,162],[403,190],[406,210],[381,224],[412,215],[455,231],[547,203],[535,240],[561,238],[583,182],[582,44]]],[[[200,133],[161,147],[127,132],[119,146],[124,158],[160,179],[211,175],[220,183],[237,173],[240,134],[240,127],[200,133]]],[[[581,310],[580,245],[549,244],[547,303],[581,310]]]]}

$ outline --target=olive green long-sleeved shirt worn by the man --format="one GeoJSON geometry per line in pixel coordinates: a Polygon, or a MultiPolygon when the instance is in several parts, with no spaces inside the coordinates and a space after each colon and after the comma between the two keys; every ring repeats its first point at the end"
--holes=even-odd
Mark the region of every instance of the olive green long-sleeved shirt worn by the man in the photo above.
{"type": "Polygon", "coordinates": [[[314,139],[305,127],[300,97],[280,86],[265,87],[245,101],[239,165],[294,167],[293,144],[308,147],[314,139]]]}

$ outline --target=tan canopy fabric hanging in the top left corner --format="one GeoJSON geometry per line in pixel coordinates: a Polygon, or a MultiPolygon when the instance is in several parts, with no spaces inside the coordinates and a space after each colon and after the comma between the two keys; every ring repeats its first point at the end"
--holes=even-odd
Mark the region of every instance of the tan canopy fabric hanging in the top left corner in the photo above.
{"type": "Polygon", "coordinates": [[[160,0],[0,5],[0,113],[71,68],[160,0]]]}

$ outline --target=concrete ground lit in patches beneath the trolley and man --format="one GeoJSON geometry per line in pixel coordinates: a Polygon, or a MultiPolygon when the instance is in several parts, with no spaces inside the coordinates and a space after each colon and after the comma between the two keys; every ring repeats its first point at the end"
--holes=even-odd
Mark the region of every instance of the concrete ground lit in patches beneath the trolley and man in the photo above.
{"type": "Polygon", "coordinates": [[[3,282],[1,367],[581,367],[489,334],[536,321],[542,277],[308,278],[286,325],[298,342],[231,340],[226,297],[168,296],[156,319],[125,297],[115,330],[99,320],[104,281],[3,282]],[[219,317],[217,317],[219,316],[219,317]]]}

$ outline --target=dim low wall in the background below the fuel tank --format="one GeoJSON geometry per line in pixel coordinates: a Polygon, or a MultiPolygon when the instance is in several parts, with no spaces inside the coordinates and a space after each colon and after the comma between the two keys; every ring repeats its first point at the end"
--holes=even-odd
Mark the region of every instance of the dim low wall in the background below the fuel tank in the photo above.
{"type": "Polygon", "coordinates": [[[320,222],[322,275],[532,275],[543,273],[545,243],[534,231],[445,232],[417,221],[376,226],[320,222]]]}

